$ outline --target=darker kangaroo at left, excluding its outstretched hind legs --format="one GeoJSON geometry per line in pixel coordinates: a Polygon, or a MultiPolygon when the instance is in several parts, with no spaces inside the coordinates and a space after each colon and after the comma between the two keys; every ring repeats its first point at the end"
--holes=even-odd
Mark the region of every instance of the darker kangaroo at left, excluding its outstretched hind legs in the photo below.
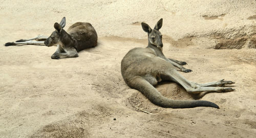
{"type": "Polygon", "coordinates": [[[98,36],[90,23],[76,22],[67,32],[63,29],[65,25],[65,17],[60,23],[55,22],[55,31],[44,42],[48,47],[57,44],[57,50],[53,53],[52,59],[78,57],[79,51],[97,45],[98,36]]]}

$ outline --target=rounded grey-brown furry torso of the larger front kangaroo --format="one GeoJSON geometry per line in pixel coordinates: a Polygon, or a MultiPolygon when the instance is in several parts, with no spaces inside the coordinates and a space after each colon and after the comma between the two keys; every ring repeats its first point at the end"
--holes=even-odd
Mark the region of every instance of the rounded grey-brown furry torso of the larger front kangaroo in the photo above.
{"type": "Polygon", "coordinates": [[[135,76],[141,76],[146,80],[150,80],[152,85],[156,85],[157,82],[161,81],[160,73],[168,69],[174,69],[172,64],[157,57],[150,50],[145,52],[142,49],[141,52],[140,49],[134,49],[129,51],[123,58],[121,62],[121,73],[125,81],[129,81],[129,79],[135,76]]]}

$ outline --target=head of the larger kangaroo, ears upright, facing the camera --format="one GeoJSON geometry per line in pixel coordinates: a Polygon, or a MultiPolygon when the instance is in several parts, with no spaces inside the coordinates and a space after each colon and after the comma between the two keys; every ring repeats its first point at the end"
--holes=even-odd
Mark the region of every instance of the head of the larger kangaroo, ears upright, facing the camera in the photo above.
{"type": "Polygon", "coordinates": [[[159,48],[163,47],[162,34],[159,32],[159,29],[161,29],[162,24],[163,24],[163,19],[161,18],[155,25],[154,29],[152,30],[148,24],[144,22],[141,23],[142,29],[148,35],[148,44],[155,45],[156,47],[159,47],[159,48]]]}

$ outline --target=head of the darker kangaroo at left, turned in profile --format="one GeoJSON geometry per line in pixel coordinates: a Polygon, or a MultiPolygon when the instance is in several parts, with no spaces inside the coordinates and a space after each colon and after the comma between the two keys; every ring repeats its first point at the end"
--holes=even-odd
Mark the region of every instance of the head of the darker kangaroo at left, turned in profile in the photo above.
{"type": "Polygon", "coordinates": [[[66,18],[63,17],[60,23],[55,22],[54,23],[54,29],[55,31],[52,32],[51,36],[48,37],[45,41],[46,46],[53,46],[59,42],[59,38],[62,34],[62,29],[66,25],[66,18]]]}

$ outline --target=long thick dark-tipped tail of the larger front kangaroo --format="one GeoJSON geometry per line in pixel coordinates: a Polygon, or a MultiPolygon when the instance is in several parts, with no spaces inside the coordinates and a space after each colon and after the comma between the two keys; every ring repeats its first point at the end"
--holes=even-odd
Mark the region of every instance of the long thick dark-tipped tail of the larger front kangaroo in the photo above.
{"type": "Polygon", "coordinates": [[[142,77],[133,79],[131,87],[142,92],[152,103],[166,108],[193,108],[198,106],[219,108],[217,104],[209,101],[168,99],[162,96],[154,86],[142,77]]]}

